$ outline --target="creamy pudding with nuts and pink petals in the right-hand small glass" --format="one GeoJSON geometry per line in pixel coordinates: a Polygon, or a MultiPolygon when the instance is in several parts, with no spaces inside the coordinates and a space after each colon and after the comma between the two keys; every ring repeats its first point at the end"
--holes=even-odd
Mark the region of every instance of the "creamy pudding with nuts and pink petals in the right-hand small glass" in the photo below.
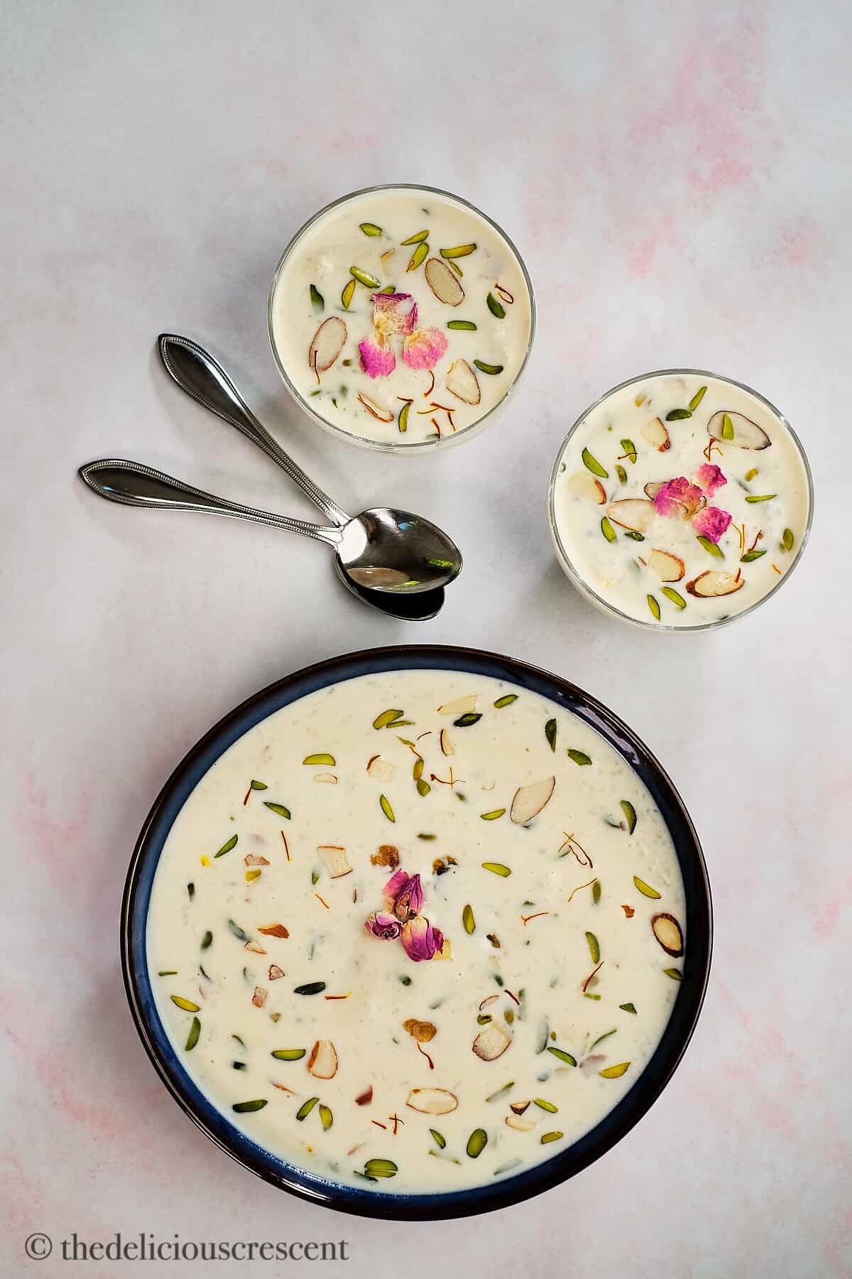
{"type": "Polygon", "coordinates": [[[807,535],[809,476],[788,425],[756,393],[708,373],[617,388],[571,430],[551,483],[568,576],[650,625],[746,611],[789,572],[807,535]]]}

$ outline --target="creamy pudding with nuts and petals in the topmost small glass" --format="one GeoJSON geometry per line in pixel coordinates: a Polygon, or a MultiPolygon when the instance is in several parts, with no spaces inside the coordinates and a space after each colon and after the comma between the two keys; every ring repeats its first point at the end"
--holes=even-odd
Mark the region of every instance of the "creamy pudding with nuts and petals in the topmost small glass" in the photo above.
{"type": "Polygon", "coordinates": [[[502,231],[420,187],[345,197],[294,239],[270,294],[290,389],[361,444],[406,449],[470,432],[526,361],[533,302],[502,231]]]}

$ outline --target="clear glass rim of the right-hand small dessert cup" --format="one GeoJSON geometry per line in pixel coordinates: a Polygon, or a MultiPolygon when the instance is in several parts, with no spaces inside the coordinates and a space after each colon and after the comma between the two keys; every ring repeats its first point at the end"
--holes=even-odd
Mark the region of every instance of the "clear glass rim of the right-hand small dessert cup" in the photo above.
{"type": "Polygon", "coordinates": [[[582,413],[580,413],[580,416],[568,428],[568,432],[566,434],[565,439],[562,440],[559,448],[556,451],[556,458],[553,459],[553,466],[551,467],[551,476],[548,480],[548,490],[547,490],[547,515],[548,515],[548,524],[551,528],[551,538],[556,549],[559,567],[565,573],[565,576],[571,582],[571,585],[580,592],[580,595],[590,600],[591,604],[597,605],[597,608],[599,608],[603,613],[620,618],[622,622],[627,622],[632,627],[641,627],[644,631],[657,631],[657,632],[662,631],[666,634],[695,634],[696,632],[700,631],[714,631],[718,629],[719,627],[728,625],[731,622],[738,622],[741,618],[747,618],[751,613],[755,611],[755,609],[759,609],[761,604],[765,604],[768,600],[773,597],[773,595],[775,595],[777,591],[782,588],[782,586],[789,579],[791,574],[797,568],[798,561],[802,558],[805,546],[807,545],[807,538],[810,537],[811,527],[814,523],[814,501],[815,501],[814,475],[811,472],[811,466],[810,462],[807,460],[807,454],[805,453],[802,441],[796,435],[796,431],[791,426],[789,421],[784,417],[782,411],[777,408],[775,404],[772,403],[772,400],[766,399],[765,395],[761,395],[760,391],[756,391],[754,386],[749,386],[746,382],[740,382],[737,381],[736,377],[724,377],[722,373],[714,373],[709,368],[655,368],[649,373],[640,373],[636,377],[628,377],[626,379],[626,381],[618,382],[617,386],[611,386],[608,391],[604,391],[603,395],[599,395],[598,399],[593,400],[591,404],[584,408],[582,413]],[[635,386],[637,382],[645,382],[648,381],[649,377],[671,377],[683,373],[686,373],[686,376],[688,377],[711,377],[717,382],[727,382],[729,386],[736,386],[738,390],[746,391],[746,394],[752,395],[756,400],[759,400],[760,404],[764,405],[764,408],[768,408],[769,412],[778,418],[782,426],[787,428],[787,432],[793,441],[793,446],[798,453],[798,458],[802,463],[802,469],[805,471],[805,478],[807,482],[807,519],[805,522],[805,531],[801,536],[798,546],[796,547],[796,554],[792,559],[792,563],[787,569],[787,572],[784,573],[784,576],[779,577],[778,581],[774,583],[774,586],[769,591],[766,591],[765,595],[761,595],[759,600],[755,600],[754,604],[750,604],[749,608],[743,609],[741,613],[732,613],[726,618],[717,618],[715,622],[700,622],[692,627],[667,625],[660,622],[646,622],[644,618],[635,618],[630,613],[625,613],[622,609],[617,609],[616,605],[612,604],[609,600],[604,599],[604,596],[598,595],[598,592],[589,586],[589,583],[580,576],[580,573],[575,568],[574,560],[568,555],[567,547],[562,541],[562,535],[559,532],[559,526],[556,518],[556,485],[559,477],[559,463],[562,462],[562,455],[565,453],[568,440],[572,437],[575,431],[577,431],[582,426],[589,414],[593,413],[597,408],[599,408],[599,405],[603,404],[604,400],[609,399],[611,395],[614,395],[617,391],[626,390],[627,386],[635,386]]]}

